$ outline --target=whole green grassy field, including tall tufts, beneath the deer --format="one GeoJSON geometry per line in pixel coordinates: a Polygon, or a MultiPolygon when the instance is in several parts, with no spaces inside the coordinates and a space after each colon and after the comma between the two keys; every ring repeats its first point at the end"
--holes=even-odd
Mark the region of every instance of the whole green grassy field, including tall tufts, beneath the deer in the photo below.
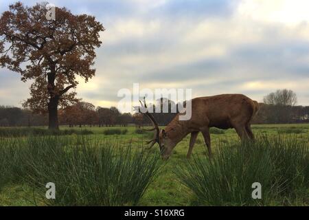
{"type": "MultiPolygon", "coordinates": [[[[253,125],[253,133],[258,139],[256,144],[240,143],[233,129],[227,131],[214,129],[211,131],[213,162],[209,162],[201,134],[198,135],[191,159],[186,158],[190,140],[190,135],[187,135],[174,148],[170,159],[162,161],[159,159],[157,146],[151,150],[143,150],[141,142],[148,140],[151,134],[143,133],[134,126],[73,128],[75,132],[65,131],[67,129],[69,128],[63,126],[61,127],[63,133],[47,135],[40,133],[40,128],[33,133],[27,133],[29,130],[27,128],[21,132],[12,129],[7,133],[4,128],[0,129],[1,206],[309,205],[309,124],[253,125]],[[24,133],[26,135],[23,135],[24,133]],[[106,150],[99,149],[103,146],[98,144],[99,142],[104,143],[106,150]],[[8,145],[19,148],[12,153],[8,150],[10,148],[8,145]],[[54,146],[56,150],[52,153],[43,152],[45,159],[42,155],[34,157],[40,152],[38,148],[43,148],[43,145],[54,146]],[[63,150],[64,145],[66,150],[63,150]],[[27,157],[23,146],[30,149],[27,152],[30,152],[34,159],[27,157]],[[78,151],[74,150],[75,146],[78,151]],[[19,153],[23,154],[23,157],[19,156],[19,153]],[[67,155],[73,155],[69,157],[69,162],[67,155]],[[118,157],[120,159],[117,159],[118,157]],[[33,164],[25,166],[25,162],[31,159],[33,164]],[[85,163],[82,164],[80,161],[85,163]],[[128,162],[122,164],[125,161],[128,162]],[[83,169],[87,163],[90,164],[89,169],[85,168],[86,173],[78,174],[76,186],[65,186],[71,184],[71,181],[67,180],[69,175],[65,167],[70,167],[78,173],[78,168],[83,169]],[[56,170],[53,170],[53,167],[56,170]],[[93,167],[98,170],[91,170],[93,167]],[[109,173],[100,170],[106,167],[109,173]],[[44,172],[52,174],[46,175],[44,172]],[[29,173],[31,175],[28,175],[29,173]],[[81,175],[86,178],[82,179],[81,175]],[[63,186],[57,185],[58,177],[63,186]],[[47,181],[55,181],[56,195],[60,197],[64,192],[64,199],[58,203],[42,199],[47,190],[43,183],[47,181]],[[130,181],[132,182],[128,184],[130,181]],[[260,200],[251,198],[253,190],[251,184],[254,181],[261,181],[264,187],[263,198],[260,200]],[[120,183],[117,185],[118,188],[111,186],[111,183],[115,182],[120,183]],[[93,187],[93,183],[98,184],[98,188],[93,187]],[[130,194],[128,191],[135,186],[136,191],[130,194]],[[68,187],[74,188],[78,193],[71,192],[68,187]],[[95,193],[91,194],[92,192],[95,193]],[[122,201],[124,196],[116,195],[116,192],[127,192],[124,193],[127,199],[122,201]],[[139,197],[132,198],[133,195],[139,197]],[[109,200],[105,201],[106,197],[109,200]],[[104,202],[101,202],[102,200],[104,202]]],[[[73,174],[70,173],[71,178],[76,177],[73,174]]]]}

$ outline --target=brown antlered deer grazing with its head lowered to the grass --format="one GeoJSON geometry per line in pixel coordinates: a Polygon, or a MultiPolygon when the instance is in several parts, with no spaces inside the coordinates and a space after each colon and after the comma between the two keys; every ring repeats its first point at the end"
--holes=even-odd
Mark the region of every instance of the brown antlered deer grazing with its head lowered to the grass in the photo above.
{"type": "MultiPolygon", "coordinates": [[[[147,108],[145,99],[144,107],[147,108]]],[[[178,113],[170,124],[161,131],[153,115],[146,111],[144,114],[154,126],[153,129],[146,131],[155,131],[154,139],[146,144],[150,144],[149,148],[151,148],[155,143],[158,143],[163,159],[168,159],[174,146],[181,142],[187,134],[191,133],[189,151],[187,152],[187,158],[190,158],[196,137],[201,132],[208,149],[209,157],[211,157],[209,128],[234,128],[241,140],[253,140],[254,136],[250,124],[258,109],[258,102],[242,94],[222,94],[194,98],[192,99],[191,119],[179,120],[178,113]]]]}

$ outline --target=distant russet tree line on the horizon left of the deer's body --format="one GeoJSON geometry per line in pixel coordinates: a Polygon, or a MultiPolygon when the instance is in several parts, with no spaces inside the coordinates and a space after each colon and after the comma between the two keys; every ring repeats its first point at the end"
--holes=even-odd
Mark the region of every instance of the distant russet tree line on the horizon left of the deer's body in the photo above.
{"type": "MultiPolygon", "coordinates": [[[[169,102],[171,112],[174,102],[162,99],[160,108],[163,109],[163,102],[169,102]]],[[[158,102],[159,103],[159,102],[158,102]]],[[[174,104],[175,105],[175,104],[174,104]]],[[[155,109],[155,104],[153,105],[155,109]]],[[[168,124],[176,113],[153,113],[159,124],[168,124]]],[[[76,102],[58,110],[59,123],[61,125],[73,126],[128,126],[135,124],[144,126],[149,124],[148,118],[141,113],[121,113],[116,107],[104,108],[95,107],[89,102],[76,102]]],[[[48,115],[37,113],[30,109],[18,107],[0,106],[0,126],[47,126],[48,115]]]]}

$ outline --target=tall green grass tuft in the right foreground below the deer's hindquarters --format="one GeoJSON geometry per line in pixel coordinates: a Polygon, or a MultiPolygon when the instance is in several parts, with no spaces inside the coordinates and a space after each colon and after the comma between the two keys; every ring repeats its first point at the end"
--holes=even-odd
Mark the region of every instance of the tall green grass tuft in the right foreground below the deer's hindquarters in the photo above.
{"type": "Polygon", "coordinates": [[[291,205],[308,202],[308,140],[295,136],[258,137],[255,142],[220,143],[214,158],[194,156],[175,174],[208,206],[291,205]],[[254,182],[262,199],[253,199],[254,182]]]}

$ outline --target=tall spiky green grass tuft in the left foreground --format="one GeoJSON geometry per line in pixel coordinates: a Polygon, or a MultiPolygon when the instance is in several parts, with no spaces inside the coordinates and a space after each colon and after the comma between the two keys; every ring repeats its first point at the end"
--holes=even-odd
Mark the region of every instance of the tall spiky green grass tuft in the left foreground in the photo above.
{"type": "Polygon", "coordinates": [[[6,182],[32,186],[38,205],[136,205],[159,168],[159,155],[87,136],[28,137],[16,146],[16,159],[1,148],[0,155],[9,152],[8,173],[15,171],[6,182]],[[56,199],[45,198],[47,182],[56,184],[56,199]]]}

